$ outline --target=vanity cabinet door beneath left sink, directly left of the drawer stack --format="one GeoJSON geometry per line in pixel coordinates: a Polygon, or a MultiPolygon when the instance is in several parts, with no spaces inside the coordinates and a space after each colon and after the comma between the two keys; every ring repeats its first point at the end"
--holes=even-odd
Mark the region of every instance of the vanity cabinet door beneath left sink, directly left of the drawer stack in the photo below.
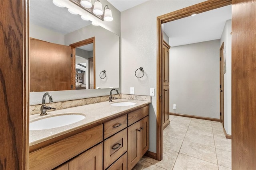
{"type": "Polygon", "coordinates": [[[80,154],[68,162],[68,170],[102,170],[103,147],[102,143],[80,154]]]}

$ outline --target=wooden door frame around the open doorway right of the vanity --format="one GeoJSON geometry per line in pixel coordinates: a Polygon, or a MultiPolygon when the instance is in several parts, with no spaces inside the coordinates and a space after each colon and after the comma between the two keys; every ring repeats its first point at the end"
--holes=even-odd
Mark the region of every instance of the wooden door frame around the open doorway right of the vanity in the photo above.
{"type": "Polygon", "coordinates": [[[202,12],[214,10],[223,6],[232,4],[232,0],[208,0],[183,8],[168,14],[157,17],[157,56],[156,56],[156,158],[162,160],[163,158],[163,126],[162,126],[162,24],[181,18],[191,16],[192,14],[199,14],[202,12]]]}

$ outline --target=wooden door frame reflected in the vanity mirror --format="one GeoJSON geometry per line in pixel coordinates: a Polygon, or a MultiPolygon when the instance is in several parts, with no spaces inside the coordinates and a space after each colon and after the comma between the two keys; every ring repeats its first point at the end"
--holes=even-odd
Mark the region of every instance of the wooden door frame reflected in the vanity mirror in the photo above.
{"type": "MultiPolygon", "coordinates": [[[[94,81],[94,88],[96,87],[96,79],[95,79],[95,37],[91,37],[91,38],[88,38],[88,39],[84,39],[82,41],[78,41],[76,43],[73,43],[73,44],[70,44],[69,46],[71,47],[71,53],[72,53],[72,62],[71,62],[71,74],[72,74],[72,77],[71,77],[71,84],[72,84],[72,89],[73,90],[76,90],[76,48],[77,47],[81,47],[81,46],[84,46],[84,45],[88,45],[88,44],[91,44],[93,43],[93,81],[94,81]]],[[[90,89],[90,88],[88,88],[90,89]]],[[[86,90],[88,90],[86,89],[86,90]]]]}

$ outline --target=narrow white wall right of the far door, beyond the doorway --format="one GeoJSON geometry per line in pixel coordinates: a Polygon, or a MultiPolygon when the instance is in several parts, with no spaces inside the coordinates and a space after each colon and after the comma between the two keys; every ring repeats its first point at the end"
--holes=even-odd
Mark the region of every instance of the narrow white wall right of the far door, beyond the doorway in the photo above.
{"type": "Polygon", "coordinates": [[[227,20],[220,39],[220,46],[224,42],[224,56],[226,57],[226,74],[224,74],[224,128],[231,135],[231,20],[227,20]]]}

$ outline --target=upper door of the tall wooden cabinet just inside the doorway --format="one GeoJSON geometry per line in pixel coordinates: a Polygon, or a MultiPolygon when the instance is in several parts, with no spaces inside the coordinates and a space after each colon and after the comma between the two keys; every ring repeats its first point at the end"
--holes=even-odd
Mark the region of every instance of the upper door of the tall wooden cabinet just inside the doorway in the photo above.
{"type": "Polygon", "coordinates": [[[169,49],[170,46],[164,41],[162,56],[163,86],[169,86],[169,49]]]}

